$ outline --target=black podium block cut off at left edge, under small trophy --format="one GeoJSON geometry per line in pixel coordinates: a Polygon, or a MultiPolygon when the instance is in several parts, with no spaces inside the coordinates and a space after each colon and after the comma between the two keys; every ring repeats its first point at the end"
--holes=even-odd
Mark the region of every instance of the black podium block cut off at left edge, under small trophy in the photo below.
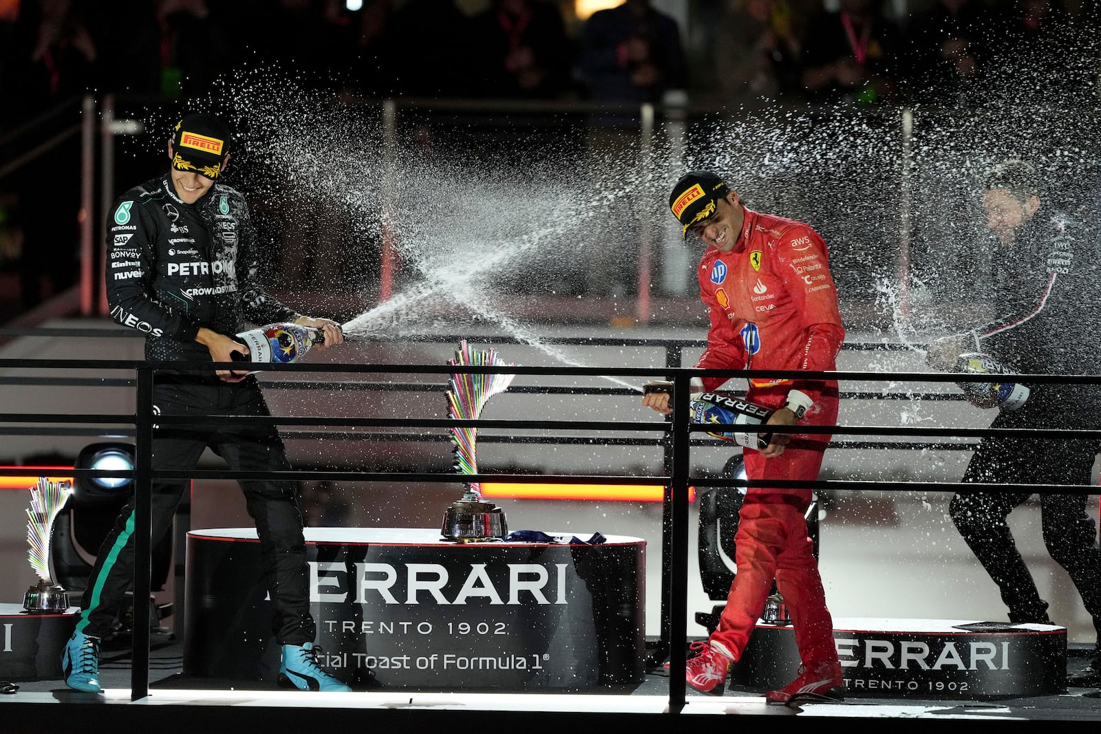
{"type": "Polygon", "coordinates": [[[22,604],[0,604],[0,679],[57,680],[62,650],[76,627],[77,610],[30,614],[22,604]]]}

